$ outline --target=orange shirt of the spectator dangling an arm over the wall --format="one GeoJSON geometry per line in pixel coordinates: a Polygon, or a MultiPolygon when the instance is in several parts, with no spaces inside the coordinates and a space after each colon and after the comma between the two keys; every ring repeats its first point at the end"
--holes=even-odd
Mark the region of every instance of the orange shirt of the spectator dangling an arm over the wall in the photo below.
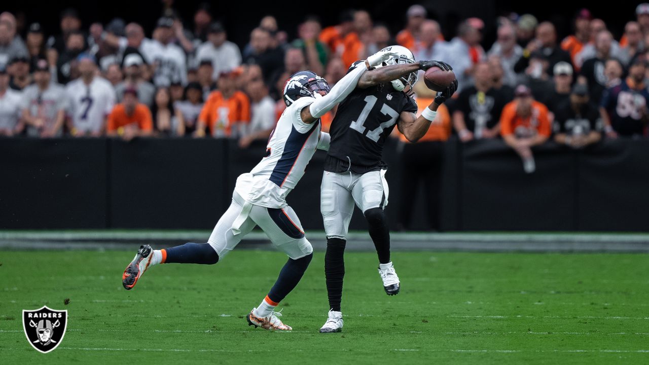
{"type": "Polygon", "coordinates": [[[552,126],[548,116],[548,108],[539,103],[532,101],[532,114],[528,118],[520,118],[516,113],[518,101],[510,101],[500,114],[500,134],[502,136],[550,136],[552,126]]]}

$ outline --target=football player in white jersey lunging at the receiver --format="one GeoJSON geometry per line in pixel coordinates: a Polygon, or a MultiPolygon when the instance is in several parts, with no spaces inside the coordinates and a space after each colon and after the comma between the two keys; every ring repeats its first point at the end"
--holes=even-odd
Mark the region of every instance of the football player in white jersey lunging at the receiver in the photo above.
{"type": "Polygon", "coordinates": [[[287,107],[269,138],[266,157],[250,173],[239,176],[232,203],[208,242],[162,250],[142,245],[124,271],[124,288],[132,289],[144,271],[156,264],[215,264],[258,225],[289,259],[268,295],[246,318],[249,325],[290,331],[291,327],[277,318],[280,314],[275,312],[275,307],[299,283],[313,257],[313,249],[304,236],[299,218],[286,203],[286,195],[304,175],[315,149],[328,149],[329,134],[320,131],[319,118],[324,113],[349,95],[359,79],[386,82],[410,72],[404,65],[367,71],[392,56],[389,51],[372,55],[365,67],[347,73],[331,90],[322,77],[311,71],[292,75],[284,86],[287,107]]]}

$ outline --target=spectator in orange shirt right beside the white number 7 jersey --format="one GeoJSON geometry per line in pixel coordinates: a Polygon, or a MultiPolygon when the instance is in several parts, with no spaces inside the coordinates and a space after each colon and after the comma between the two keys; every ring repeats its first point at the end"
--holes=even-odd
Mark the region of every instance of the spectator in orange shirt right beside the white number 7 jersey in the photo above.
{"type": "Polygon", "coordinates": [[[106,134],[125,141],[153,134],[151,110],[138,101],[138,90],[124,90],[122,102],[117,104],[108,116],[106,134]]]}

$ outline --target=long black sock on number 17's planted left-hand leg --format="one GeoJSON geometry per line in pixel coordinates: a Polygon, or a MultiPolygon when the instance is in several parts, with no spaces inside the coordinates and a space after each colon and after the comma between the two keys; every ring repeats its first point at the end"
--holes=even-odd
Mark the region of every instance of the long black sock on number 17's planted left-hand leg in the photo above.
{"type": "Polygon", "coordinates": [[[341,238],[326,239],[324,254],[324,276],[326,292],[329,296],[329,308],[340,312],[340,301],[343,296],[343,277],[345,277],[345,243],[341,238]]]}

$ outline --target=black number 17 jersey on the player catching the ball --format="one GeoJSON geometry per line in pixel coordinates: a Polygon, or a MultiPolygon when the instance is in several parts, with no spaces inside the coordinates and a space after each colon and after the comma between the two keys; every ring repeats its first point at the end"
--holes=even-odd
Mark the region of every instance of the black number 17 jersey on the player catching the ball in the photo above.
{"type": "Polygon", "coordinates": [[[383,145],[401,112],[416,113],[417,103],[390,83],[356,88],[338,105],[324,170],[366,173],[386,168],[383,145]]]}

